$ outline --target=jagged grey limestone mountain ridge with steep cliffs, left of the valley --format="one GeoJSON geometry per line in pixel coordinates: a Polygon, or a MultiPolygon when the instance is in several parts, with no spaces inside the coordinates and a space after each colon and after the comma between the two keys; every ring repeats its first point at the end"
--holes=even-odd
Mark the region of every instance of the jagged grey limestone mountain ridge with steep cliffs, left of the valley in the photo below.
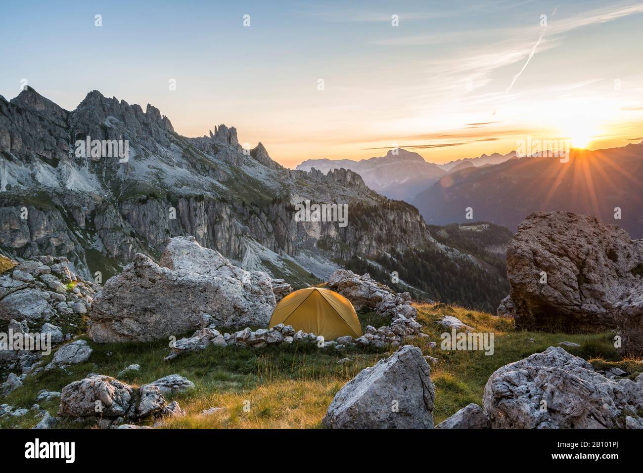
{"type": "Polygon", "coordinates": [[[136,253],[158,259],[182,235],[267,271],[294,264],[306,274],[302,251],[334,270],[331,260],[427,238],[415,208],[373,192],[356,172],[286,169],[261,143],[244,150],[233,127],[185,138],[152,105],[98,91],[74,111],[30,87],[11,102],[0,97],[1,251],[66,256],[83,276],[107,278],[136,253]],[[127,140],[129,156],[83,156],[77,142],[88,136],[127,140]],[[349,224],[296,221],[294,204],[305,200],[348,204],[349,224]]]}

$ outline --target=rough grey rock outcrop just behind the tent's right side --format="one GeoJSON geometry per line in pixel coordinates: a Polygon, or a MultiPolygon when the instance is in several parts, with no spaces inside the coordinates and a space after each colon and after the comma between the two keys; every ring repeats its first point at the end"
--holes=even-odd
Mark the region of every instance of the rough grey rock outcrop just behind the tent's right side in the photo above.
{"type": "Polygon", "coordinates": [[[408,292],[396,294],[388,286],[373,280],[368,273],[359,276],[348,269],[338,269],[331,274],[328,287],[349,299],[355,310],[374,310],[394,319],[417,316],[408,292]]]}

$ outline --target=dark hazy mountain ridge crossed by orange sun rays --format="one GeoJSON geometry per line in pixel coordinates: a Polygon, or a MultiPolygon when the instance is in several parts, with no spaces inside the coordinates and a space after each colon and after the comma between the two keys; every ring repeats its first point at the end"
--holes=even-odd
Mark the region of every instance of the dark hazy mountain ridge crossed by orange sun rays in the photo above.
{"type": "MultiPolygon", "coordinates": [[[[492,155],[493,156],[493,155],[492,155]]],[[[572,211],[595,215],[643,237],[643,142],[604,150],[573,149],[557,157],[520,157],[451,172],[411,203],[429,224],[494,222],[516,230],[529,213],[572,211]],[[616,210],[615,210],[616,209],[616,210]],[[620,219],[618,211],[620,209],[620,219]]]]}

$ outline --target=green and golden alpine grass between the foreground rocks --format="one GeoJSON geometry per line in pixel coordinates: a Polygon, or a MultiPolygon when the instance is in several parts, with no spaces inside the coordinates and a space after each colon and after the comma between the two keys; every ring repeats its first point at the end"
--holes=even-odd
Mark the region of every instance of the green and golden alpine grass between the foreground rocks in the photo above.
{"type": "MultiPolygon", "coordinates": [[[[561,341],[580,344],[579,348],[565,348],[568,352],[588,359],[596,369],[619,366],[635,377],[643,366],[640,361],[622,360],[611,344],[611,332],[603,334],[546,334],[516,332],[511,319],[500,319],[485,312],[444,304],[418,305],[418,321],[422,331],[430,337],[413,339],[425,355],[439,361],[431,365],[431,379],[435,383],[435,423],[439,423],[471,402],[482,404],[487,379],[501,366],[542,352],[561,341]],[[444,315],[453,315],[473,326],[479,332],[494,333],[494,354],[484,352],[446,352],[440,350],[440,334],[445,332],[435,321],[444,315]],[[437,346],[430,348],[430,341],[437,346]]],[[[363,328],[376,328],[388,321],[372,312],[360,313],[363,328]]],[[[168,421],[170,428],[320,428],[335,393],[350,379],[377,360],[390,355],[386,350],[355,348],[345,352],[319,350],[315,344],[267,346],[259,350],[249,348],[210,347],[165,362],[169,348],[167,341],[155,343],[96,344],[89,362],[69,368],[69,373],[53,370],[26,379],[24,386],[6,397],[14,407],[31,407],[38,391],[60,391],[73,380],[87,373],[110,376],[129,364],[138,363],[141,371],[124,375],[121,380],[140,386],[160,377],[178,373],[195,383],[191,391],[180,393],[177,400],[187,415],[168,421]],[[345,364],[337,364],[349,357],[345,364]],[[202,415],[210,407],[223,409],[213,415],[202,415]],[[249,407],[249,409],[248,409],[249,407]]],[[[55,415],[58,401],[42,404],[55,415]]],[[[5,417],[0,427],[32,427],[39,419],[33,413],[16,420],[5,417]]],[[[151,424],[152,421],[145,421],[151,424]]],[[[62,427],[84,427],[65,421],[62,427]]],[[[89,425],[91,426],[91,425],[89,425]]]]}

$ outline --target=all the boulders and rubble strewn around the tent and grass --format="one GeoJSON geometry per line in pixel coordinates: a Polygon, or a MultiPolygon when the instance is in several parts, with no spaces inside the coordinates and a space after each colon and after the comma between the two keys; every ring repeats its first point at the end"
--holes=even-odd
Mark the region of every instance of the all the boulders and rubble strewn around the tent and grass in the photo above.
{"type": "MultiPolygon", "coordinates": [[[[515,317],[519,327],[533,325],[538,330],[604,332],[615,327],[619,353],[640,353],[639,251],[639,240],[629,240],[624,232],[590,217],[530,215],[510,245],[511,295],[498,315],[505,321],[515,317]]],[[[0,275],[0,319],[16,334],[49,334],[54,353],[49,359],[28,347],[1,351],[1,368],[7,375],[0,396],[10,396],[51,370],[68,375],[75,366],[91,362],[96,344],[147,343],[194,331],[170,344],[165,362],[211,346],[259,350],[316,345],[323,353],[340,356],[389,350],[390,356],[359,371],[336,393],[321,423],[331,429],[433,428],[436,392],[429,362],[437,359],[423,356],[419,346],[431,350],[437,343],[424,333],[426,321],[419,321],[409,294],[396,294],[368,274],[343,269],[331,274],[328,285],[357,310],[383,317],[387,325],[368,325],[357,339],[336,340],[291,325],[266,328],[276,302],[292,288],[264,272],[240,269],[190,237],[170,238],[159,264],[136,255],[104,287],[79,278],[65,258],[33,257],[0,275]],[[78,338],[86,333],[93,348],[78,338]]],[[[435,326],[442,326],[446,335],[476,335],[476,328],[467,325],[471,322],[458,319],[453,309],[435,308],[444,314],[435,319],[435,326]]],[[[435,427],[643,428],[643,374],[636,375],[640,370],[635,375],[618,368],[599,372],[562,348],[573,350],[579,344],[559,345],[498,368],[487,380],[482,406],[469,404],[435,427]]],[[[344,357],[341,363],[351,360],[344,357]]],[[[116,377],[88,373],[60,391],[42,389],[34,402],[60,402],[56,416],[33,404],[31,410],[40,419],[37,427],[69,422],[149,427],[184,416],[185,409],[168,398],[194,389],[194,382],[178,373],[140,386],[121,380],[139,370],[140,365],[132,364],[116,377]]],[[[215,413],[219,407],[212,409],[215,413]]],[[[21,418],[28,410],[1,404],[0,418],[21,418]]]]}

